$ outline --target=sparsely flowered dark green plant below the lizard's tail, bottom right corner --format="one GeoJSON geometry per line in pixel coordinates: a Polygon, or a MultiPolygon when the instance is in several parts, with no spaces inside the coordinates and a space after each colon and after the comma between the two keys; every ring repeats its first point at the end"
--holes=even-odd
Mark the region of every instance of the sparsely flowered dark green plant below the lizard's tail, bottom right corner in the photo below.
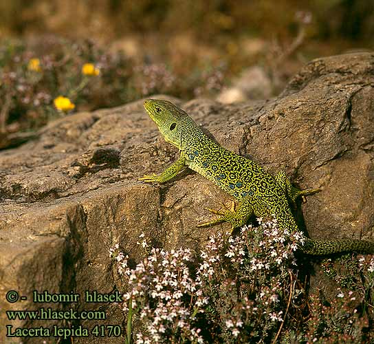
{"type": "Polygon", "coordinates": [[[334,262],[322,261],[325,274],[338,283],[336,297],[329,302],[318,293],[310,297],[307,343],[370,343],[374,319],[374,256],[347,254],[334,262]]]}

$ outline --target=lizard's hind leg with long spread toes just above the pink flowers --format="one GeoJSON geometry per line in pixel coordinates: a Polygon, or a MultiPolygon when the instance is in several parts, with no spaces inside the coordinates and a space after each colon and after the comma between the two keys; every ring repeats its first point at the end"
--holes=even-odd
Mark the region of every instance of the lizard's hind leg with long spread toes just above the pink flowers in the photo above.
{"type": "Polygon", "coordinates": [[[228,222],[231,224],[232,230],[234,230],[235,228],[244,226],[248,222],[250,216],[253,214],[252,204],[250,204],[250,202],[246,200],[243,200],[241,203],[239,203],[237,209],[235,209],[235,202],[232,202],[231,208],[226,211],[215,211],[210,208],[207,208],[207,210],[210,213],[219,215],[219,217],[217,217],[217,219],[213,219],[210,222],[199,224],[197,225],[197,227],[210,227],[215,226],[216,224],[221,224],[223,222],[228,222]]]}

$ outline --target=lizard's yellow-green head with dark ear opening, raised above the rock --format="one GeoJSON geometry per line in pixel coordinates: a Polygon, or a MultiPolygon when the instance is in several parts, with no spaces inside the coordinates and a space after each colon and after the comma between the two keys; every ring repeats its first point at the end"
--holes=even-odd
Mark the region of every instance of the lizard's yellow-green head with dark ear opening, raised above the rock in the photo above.
{"type": "Polygon", "coordinates": [[[168,100],[147,99],[144,101],[144,108],[165,140],[184,149],[186,131],[196,126],[188,114],[168,100]]]}

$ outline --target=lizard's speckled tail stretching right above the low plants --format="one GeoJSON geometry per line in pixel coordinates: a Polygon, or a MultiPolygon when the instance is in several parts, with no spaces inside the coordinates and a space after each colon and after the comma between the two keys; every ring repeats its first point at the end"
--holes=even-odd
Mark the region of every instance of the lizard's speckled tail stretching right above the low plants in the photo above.
{"type": "Polygon", "coordinates": [[[299,249],[307,255],[331,255],[340,252],[374,253],[374,242],[358,239],[313,240],[305,239],[299,249]]]}

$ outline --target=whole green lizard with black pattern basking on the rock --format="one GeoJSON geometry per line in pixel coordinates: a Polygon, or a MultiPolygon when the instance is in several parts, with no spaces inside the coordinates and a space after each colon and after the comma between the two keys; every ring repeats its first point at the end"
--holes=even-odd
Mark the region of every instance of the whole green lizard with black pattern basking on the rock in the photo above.
{"type": "MultiPolygon", "coordinates": [[[[279,228],[289,233],[299,231],[288,200],[295,202],[297,197],[311,195],[319,189],[300,191],[292,186],[284,172],[273,177],[256,162],[224,149],[208,138],[185,111],[168,100],[148,99],[144,102],[144,108],[165,140],[179,149],[180,155],[179,159],[161,174],[144,175],[139,180],[164,183],[174,178],[184,166],[188,166],[232,195],[238,202],[236,207],[233,202],[230,210],[208,209],[219,217],[198,227],[229,222],[233,229],[239,228],[254,214],[256,217],[275,215],[279,228]]],[[[307,238],[299,249],[310,255],[351,251],[374,253],[374,243],[356,239],[307,238]]]]}

